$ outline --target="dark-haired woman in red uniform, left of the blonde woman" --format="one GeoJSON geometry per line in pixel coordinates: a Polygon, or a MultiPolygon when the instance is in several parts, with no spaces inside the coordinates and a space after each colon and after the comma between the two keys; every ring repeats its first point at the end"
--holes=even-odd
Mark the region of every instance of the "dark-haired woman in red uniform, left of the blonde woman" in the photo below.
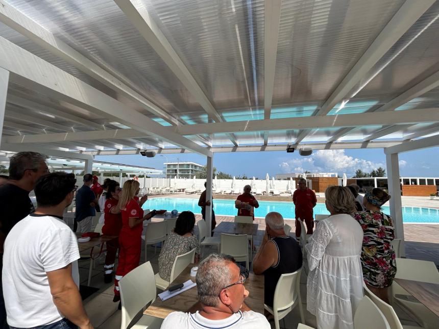
{"type": "Polygon", "coordinates": [[[121,191],[119,183],[110,180],[106,183],[107,193],[104,205],[104,226],[102,227],[102,234],[115,235],[114,238],[107,242],[107,256],[105,257],[104,265],[104,282],[110,283],[114,268],[114,260],[116,259],[116,251],[119,247],[119,233],[122,228],[122,215],[120,208],[117,207],[119,202],[119,193],[121,191]]]}

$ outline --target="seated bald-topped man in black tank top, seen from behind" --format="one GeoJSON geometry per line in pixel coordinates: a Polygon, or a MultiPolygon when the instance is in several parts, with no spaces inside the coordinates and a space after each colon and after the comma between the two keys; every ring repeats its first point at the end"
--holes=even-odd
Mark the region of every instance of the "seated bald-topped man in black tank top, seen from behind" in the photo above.
{"type": "Polygon", "coordinates": [[[265,224],[265,235],[253,260],[253,272],[264,274],[264,303],[273,307],[279,277],[302,267],[302,250],[295,238],[285,235],[281,214],[268,213],[265,224]]]}

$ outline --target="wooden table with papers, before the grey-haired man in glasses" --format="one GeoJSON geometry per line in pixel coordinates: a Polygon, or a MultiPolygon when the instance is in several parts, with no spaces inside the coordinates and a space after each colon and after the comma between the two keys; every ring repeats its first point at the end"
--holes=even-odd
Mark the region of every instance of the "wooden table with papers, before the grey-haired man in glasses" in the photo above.
{"type": "MultiPolygon", "coordinates": [[[[188,280],[195,282],[195,277],[190,276],[190,269],[193,266],[196,265],[189,264],[169,286],[184,283],[188,280]]],[[[247,306],[252,311],[264,314],[264,276],[250,273],[245,286],[250,292],[249,297],[245,299],[247,306]]],[[[157,296],[156,300],[143,312],[143,314],[164,319],[171,312],[187,312],[187,310],[197,302],[198,290],[197,287],[193,287],[165,301],[162,301],[160,297],[157,296]]]]}

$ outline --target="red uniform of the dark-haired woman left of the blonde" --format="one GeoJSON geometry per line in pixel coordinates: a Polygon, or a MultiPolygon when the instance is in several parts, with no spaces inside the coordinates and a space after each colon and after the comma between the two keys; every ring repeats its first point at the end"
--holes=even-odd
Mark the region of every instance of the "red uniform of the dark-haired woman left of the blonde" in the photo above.
{"type": "Polygon", "coordinates": [[[102,227],[102,234],[104,235],[115,235],[110,241],[107,241],[107,256],[105,257],[104,270],[105,274],[110,274],[113,272],[114,260],[116,259],[116,251],[119,247],[119,233],[122,228],[122,215],[112,214],[111,209],[117,206],[118,200],[114,198],[109,198],[105,201],[104,207],[104,226],[102,227]]]}

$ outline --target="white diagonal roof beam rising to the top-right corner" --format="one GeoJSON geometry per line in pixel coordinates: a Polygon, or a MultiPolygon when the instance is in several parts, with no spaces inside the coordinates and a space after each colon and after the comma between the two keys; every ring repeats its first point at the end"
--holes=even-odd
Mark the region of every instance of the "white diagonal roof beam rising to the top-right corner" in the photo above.
{"type": "MultiPolygon", "coordinates": [[[[357,83],[384,56],[388,49],[390,49],[401,38],[401,36],[407,32],[407,30],[425,11],[428,10],[428,8],[430,8],[433,3],[434,0],[423,2],[406,1],[315,115],[326,115],[339,102],[349,100],[351,95],[348,95],[348,93],[352,88],[357,85],[357,83]]],[[[297,139],[296,143],[301,142],[306,135],[300,134],[301,138],[297,139]]]]}

